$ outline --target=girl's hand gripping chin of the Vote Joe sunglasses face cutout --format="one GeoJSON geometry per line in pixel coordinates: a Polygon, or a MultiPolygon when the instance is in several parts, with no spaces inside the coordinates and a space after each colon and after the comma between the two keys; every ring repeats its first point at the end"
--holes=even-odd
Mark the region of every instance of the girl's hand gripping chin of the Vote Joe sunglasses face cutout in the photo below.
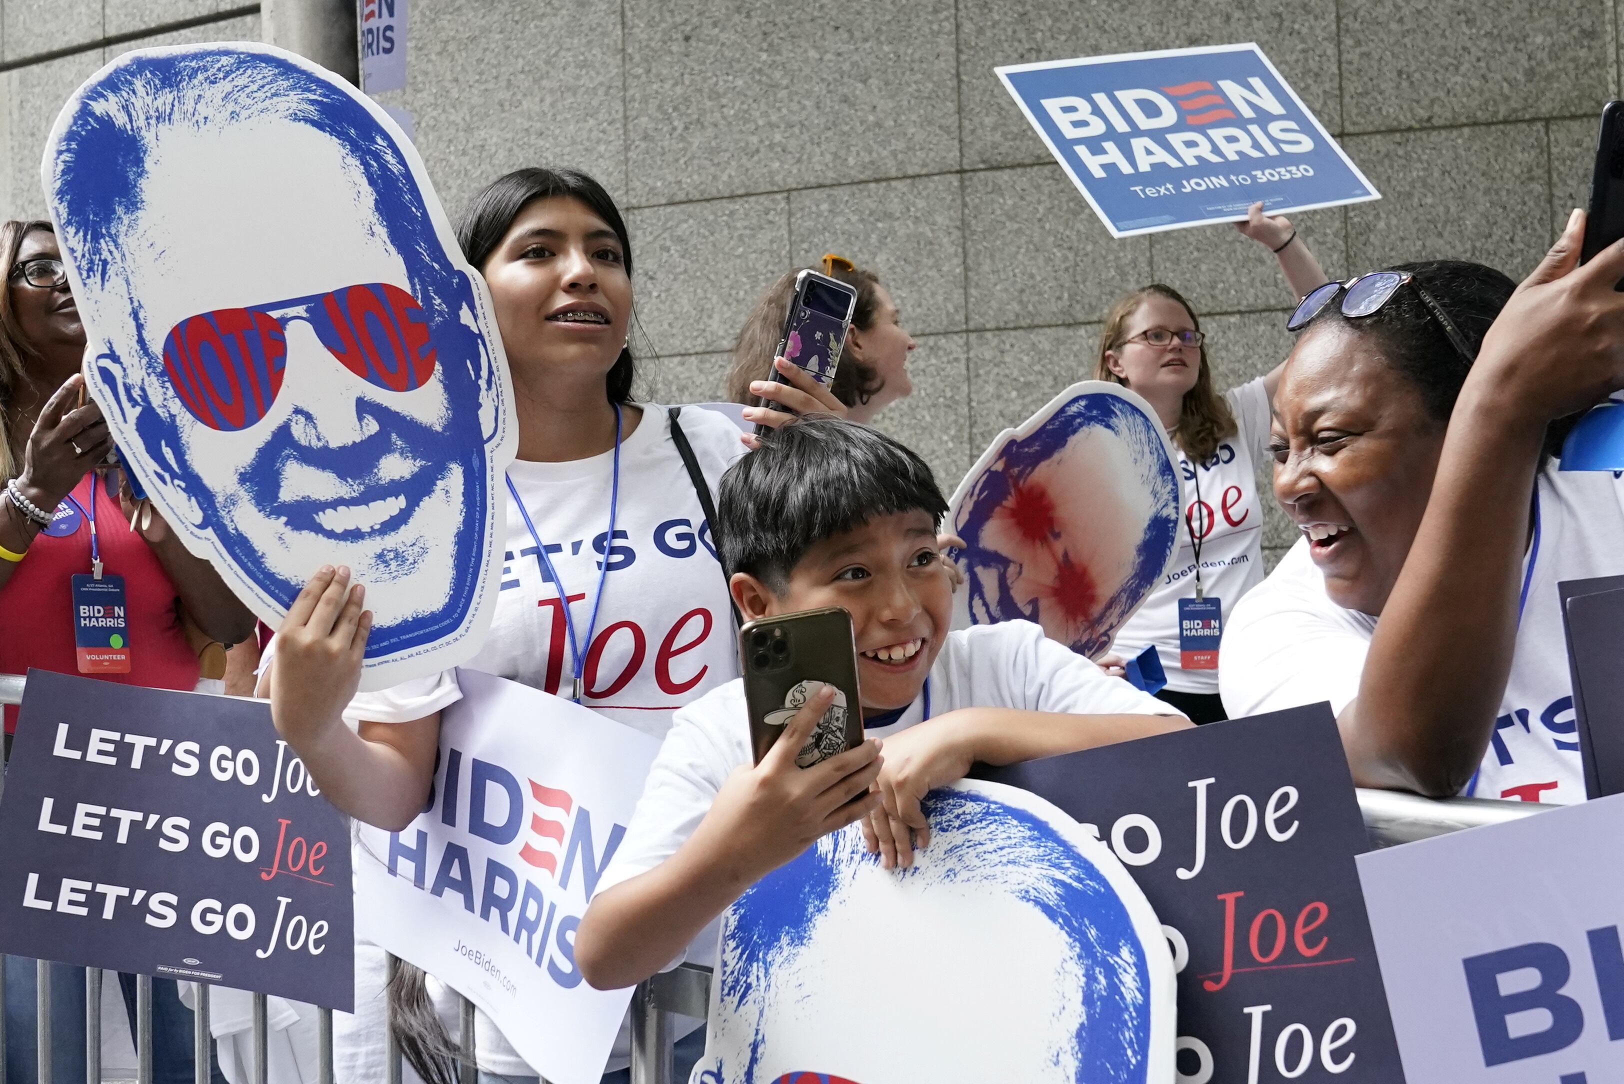
{"type": "Polygon", "coordinates": [[[349,585],[349,569],[325,567],[299,592],[276,631],[271,722],[296,751],[344,725],[372,631],[372,611],[361,609],[364,598],[364,587],[349,585]]]}

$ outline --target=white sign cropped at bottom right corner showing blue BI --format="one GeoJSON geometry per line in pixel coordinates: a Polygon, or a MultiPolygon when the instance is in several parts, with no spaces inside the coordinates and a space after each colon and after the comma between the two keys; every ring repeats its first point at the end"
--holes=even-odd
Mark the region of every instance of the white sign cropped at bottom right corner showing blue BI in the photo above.
{"type": "Polygon", "coordinates": [[[1359,855],[1410,1084],[1624,1066],[1624,795],[1359,855]]]}

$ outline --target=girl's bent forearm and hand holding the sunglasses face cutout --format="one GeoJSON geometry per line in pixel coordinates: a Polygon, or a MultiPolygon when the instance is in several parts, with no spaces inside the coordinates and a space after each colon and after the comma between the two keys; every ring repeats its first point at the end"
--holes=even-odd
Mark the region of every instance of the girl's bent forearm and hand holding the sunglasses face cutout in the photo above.
{"type": "Polygon", "coordinates": [[[434,782],[440,715],[409,723],[344,723],[361,684],[372,629],[365,592],[348,569],[322,569],[294,600],[276,632],[276,655],[260,689],[276,731],[292,746],[335,806],[380,829],[400,830],[422,813],[434,782]]]}

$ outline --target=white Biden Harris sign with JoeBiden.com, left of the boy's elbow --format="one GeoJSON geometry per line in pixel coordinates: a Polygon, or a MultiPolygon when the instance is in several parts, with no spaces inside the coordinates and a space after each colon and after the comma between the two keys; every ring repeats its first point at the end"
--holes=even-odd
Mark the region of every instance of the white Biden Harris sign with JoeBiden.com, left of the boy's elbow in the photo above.
{"type": "Polygon", "coordinates": [[[593,990],[575,928],[659,741],[473,670],[440,718],[429,808],[356,822],[356,931],[477,1004],[554,1084],[598,1084],[632,998],[593,990]]]}

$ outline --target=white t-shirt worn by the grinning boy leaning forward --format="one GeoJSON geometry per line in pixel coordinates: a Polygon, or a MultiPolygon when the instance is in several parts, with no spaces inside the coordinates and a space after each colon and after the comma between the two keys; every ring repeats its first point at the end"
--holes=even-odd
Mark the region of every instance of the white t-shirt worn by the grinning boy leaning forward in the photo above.
{"type": "MultiPolygon", "coordinates": [[[[870,728],[869,736],[887,738],[922,722],[926,696],[932,715],[961,707],[1080,715],[1176,713],[1121,678],[1108,678],[1030,621],[948,632],[921,696],[890,725],[870,728]]],[[[723,780],[736,767],[754,762],[747,718],[742,679],[677,712],[620,850],[599,881],[599,892],[648,873],[687,842],[710,813],[723,780]]]]}

